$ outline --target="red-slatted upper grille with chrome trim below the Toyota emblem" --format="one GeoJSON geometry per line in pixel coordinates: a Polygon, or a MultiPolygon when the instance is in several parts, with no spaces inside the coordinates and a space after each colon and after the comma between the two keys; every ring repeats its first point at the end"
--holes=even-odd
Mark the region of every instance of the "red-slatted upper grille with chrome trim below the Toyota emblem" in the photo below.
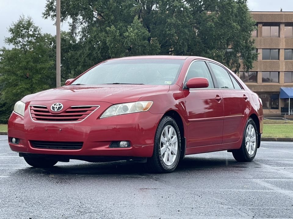
{"type": "Polygon", "coordinates": [[[53,114],[47,106],[30,105],[31,119],[35,122],[72,123],[81,122],[99,106],[71,106],[62,113],[53,114]]]}

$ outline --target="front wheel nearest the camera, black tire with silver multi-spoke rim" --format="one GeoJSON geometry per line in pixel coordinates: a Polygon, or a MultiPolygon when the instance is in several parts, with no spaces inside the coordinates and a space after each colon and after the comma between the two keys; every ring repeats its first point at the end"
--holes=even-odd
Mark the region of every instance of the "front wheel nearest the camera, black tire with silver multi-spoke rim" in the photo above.
{"type": "Polygon", "coordinates": [[[147,158],[147,170],[155,173],[173,172],[178,165],[180,151],[181,137],[179,128],[172,117],[163,116],[156,130],[153,156],[147,158]],[[171,135],[170,138],[166,136],[166,131],[169,136],[171,135]],[[174,134],[176,135],[177,141],[174,134]],[[166,140],[165,145],[161,141],[161,137],[166,140]],[[165,149],[163,154],[161,153],[161,149],[165,149]]]}

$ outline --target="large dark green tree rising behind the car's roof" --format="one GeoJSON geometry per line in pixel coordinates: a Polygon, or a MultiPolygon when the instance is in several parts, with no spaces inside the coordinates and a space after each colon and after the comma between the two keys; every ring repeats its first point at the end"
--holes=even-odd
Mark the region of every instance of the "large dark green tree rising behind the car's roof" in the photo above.
{"type": "MultiPolygon", "coordinates": [[[[56,18],[56,0],[47,0],[43,17],[56,18]]],[[[257,56],[247,0],[61,0],[61,20],[70,21],[81,45],[81,70],[114,57],[162,54],[204,56],[239,71],[240,56],[245,70],[257,56]]]]}

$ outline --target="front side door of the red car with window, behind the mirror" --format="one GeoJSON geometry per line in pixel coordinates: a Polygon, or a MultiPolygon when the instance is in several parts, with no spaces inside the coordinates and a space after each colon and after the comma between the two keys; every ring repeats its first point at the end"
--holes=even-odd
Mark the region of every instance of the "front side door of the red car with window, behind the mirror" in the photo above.
{"type": "Polygon", "coordinates": [[[215,89],[212,75],[205,61],[194,61],[187,72],[183,94],[186,101],[187,147],[222,143],[224,106],[221,92],[215,89]],[[209,86],[188,89],[190,78],[207,78],[209,86]]]}

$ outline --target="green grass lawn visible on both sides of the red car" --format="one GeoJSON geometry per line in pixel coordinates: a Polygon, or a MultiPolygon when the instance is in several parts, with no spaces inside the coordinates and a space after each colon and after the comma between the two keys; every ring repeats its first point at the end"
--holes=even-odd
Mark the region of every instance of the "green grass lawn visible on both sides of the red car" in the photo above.
{"type": "MultiPolygon", "coordinates": [[[[0,132],[7,132],[6,124],[0,124],[0,132]]],[[[293,137],[293,121],[265,120],[262,137],[293,137]]]]}

